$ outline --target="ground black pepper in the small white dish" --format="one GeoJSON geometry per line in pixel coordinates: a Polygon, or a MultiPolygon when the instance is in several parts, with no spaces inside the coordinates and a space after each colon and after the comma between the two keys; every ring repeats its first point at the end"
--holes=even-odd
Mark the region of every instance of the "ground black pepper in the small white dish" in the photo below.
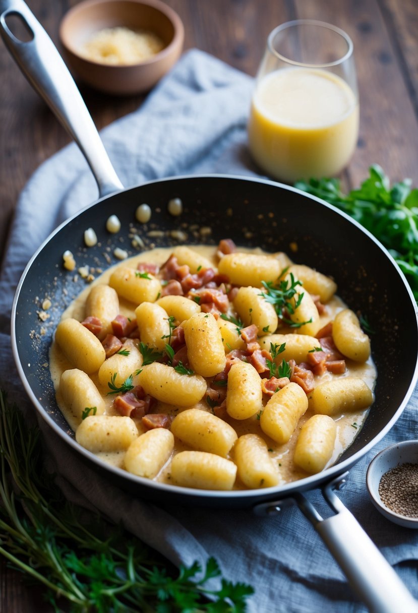
{"type": "Polygon", "coordinates": [[[418,517],[418,464],[406,462],[382,475],[379,495],[391,511],[405,517],[418,517]]]}

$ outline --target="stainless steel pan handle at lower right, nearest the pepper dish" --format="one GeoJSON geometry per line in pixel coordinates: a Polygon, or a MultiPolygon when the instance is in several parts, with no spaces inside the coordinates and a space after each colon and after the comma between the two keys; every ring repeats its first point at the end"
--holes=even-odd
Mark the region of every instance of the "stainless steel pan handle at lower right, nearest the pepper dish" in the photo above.
{"type": "Polygon", "coordinates": [[[297,504],[371,613],[418,613],[418,602],[357,519],[336,496],[335,489],[340,489],[345,483],[346,474],[333,479],[322,489],[325,500],[335,512],[331,517],[322,518],[301,493],[293,494],[290,499],[257,504],[254,512],[257,515],[272,515],[289,502],[297,504]]]}

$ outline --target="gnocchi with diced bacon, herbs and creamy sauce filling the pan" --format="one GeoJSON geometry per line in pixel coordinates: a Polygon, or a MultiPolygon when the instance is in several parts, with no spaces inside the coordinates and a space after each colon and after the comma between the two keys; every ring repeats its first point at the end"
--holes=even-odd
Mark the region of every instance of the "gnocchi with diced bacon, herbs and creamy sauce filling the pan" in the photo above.
{"type": "Polygon", "coordinates": [[[105,272],[63,314],[51,375],[77,442],[132,475],[276,487],[351,443],[373,403],[370,340],[329,276],[222,243],[105,272]]]}

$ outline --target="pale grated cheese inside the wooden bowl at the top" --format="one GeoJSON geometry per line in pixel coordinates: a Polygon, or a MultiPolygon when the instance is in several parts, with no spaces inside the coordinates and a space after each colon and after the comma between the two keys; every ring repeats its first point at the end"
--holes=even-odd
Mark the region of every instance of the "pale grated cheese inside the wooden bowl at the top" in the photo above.
{"type": "Polygon", "coordinates": [[[154,32],[118,26],[93,34],[83,45],[82,53],[99,63],[138,64],[162,51],[164,46],[162,39],[154,32]]]}

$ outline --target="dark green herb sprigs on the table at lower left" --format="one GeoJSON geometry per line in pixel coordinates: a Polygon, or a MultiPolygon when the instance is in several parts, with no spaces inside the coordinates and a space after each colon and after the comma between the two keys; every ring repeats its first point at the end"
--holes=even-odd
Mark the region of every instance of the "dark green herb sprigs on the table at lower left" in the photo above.
{"type": "Polygon", "coordinates": [[[0,409],[0,555],[44,586],[57,613],[63,600],[74,613],[245,612],[249,585],[205,587],[221,574],[213,558],[200,579],[197,562],[177,571],[121,527],[86,521],[45,473],[38,432],[1,390],[0,409]]]}

